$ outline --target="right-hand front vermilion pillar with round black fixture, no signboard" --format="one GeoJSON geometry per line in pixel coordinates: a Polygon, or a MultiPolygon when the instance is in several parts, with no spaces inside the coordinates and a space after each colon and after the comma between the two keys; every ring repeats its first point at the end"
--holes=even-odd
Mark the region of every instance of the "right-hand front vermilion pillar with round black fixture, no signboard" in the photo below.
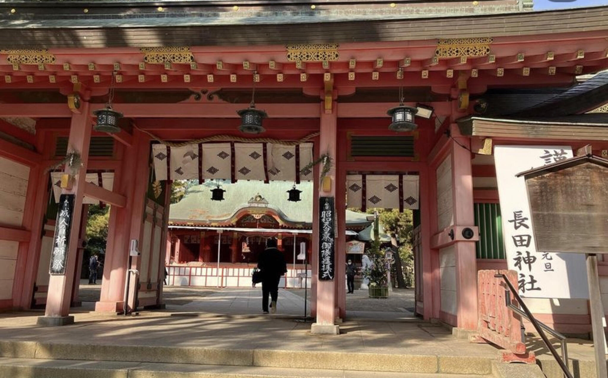
{"type": "MultiPolygon", "coordinates": [[[[452,135],[460,143],[458,145],[455,140],[451,142],[454,225],[474,229],[471,151],[463,147],[470,146],[470,140],[458,136],[457,132],[458,128],[452,127],[452,135]]],[[[454,244],[454,252],[456,257],[458,328],[476,329],[477,259],[475,257],[475,241],[457,238],[454,244]]]]}

